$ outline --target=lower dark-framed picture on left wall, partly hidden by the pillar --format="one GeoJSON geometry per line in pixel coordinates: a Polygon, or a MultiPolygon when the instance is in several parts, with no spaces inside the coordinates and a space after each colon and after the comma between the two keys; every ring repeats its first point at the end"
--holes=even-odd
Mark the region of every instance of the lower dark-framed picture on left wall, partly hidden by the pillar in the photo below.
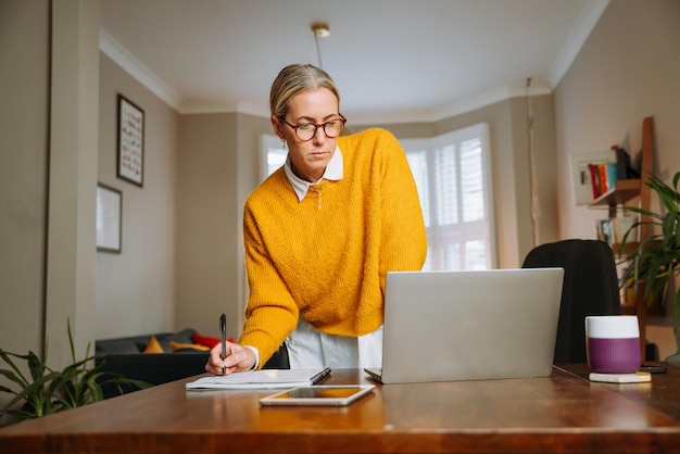
{"type": "Polygon", "coordinates": [[[97,185],[97,251],[121,253],[123,229],[123,193],[97,185]]]}

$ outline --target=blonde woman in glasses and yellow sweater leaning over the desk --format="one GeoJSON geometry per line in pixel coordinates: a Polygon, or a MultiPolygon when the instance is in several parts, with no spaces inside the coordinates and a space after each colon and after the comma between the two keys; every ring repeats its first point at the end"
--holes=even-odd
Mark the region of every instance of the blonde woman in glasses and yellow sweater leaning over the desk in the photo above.
{"type": "Polygon", "coordinates": [[[243,333],[205,369],[260,368],[284,341],[291,368],[379,367],[386,274],[427,253],[406,156],[382,129],[339,137],[340,93],[313,65],[281,70],[269,104],[288,157],[245,201],[243,333]]]}

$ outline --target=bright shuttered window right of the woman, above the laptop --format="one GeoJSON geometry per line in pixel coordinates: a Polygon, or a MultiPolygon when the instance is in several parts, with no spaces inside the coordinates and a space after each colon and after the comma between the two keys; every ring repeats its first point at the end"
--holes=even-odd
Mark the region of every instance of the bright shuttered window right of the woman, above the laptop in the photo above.
{"type": "Polygon", "coordinates": [[[424,269],[493,268],[495,228],[487,125],[400,142],[418,187],[427,228],[424,269]]]}

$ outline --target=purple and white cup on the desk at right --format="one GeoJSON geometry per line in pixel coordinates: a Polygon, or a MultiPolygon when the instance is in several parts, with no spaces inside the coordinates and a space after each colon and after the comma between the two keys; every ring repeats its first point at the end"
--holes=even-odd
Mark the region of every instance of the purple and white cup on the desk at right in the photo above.
{"type": "Polygon", "coordinates": [[[640,328],[635,315],[585,317],[585,353],[591,371],[634,374],[640,369],[640,328]]]}

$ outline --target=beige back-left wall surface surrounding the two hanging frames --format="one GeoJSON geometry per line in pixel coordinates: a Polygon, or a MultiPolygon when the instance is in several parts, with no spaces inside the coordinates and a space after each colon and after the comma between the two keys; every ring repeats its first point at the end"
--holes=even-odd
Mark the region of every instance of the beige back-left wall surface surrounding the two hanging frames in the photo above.
{"type": "Polygon", "coordinates": [[[97,253],[96,338],[175,326],[179,115],[100,53],[99,182],[123,193],[122,252],[97,253]],[[116,176],[117,96],[144,111],[143,187],[116,176]]]}

